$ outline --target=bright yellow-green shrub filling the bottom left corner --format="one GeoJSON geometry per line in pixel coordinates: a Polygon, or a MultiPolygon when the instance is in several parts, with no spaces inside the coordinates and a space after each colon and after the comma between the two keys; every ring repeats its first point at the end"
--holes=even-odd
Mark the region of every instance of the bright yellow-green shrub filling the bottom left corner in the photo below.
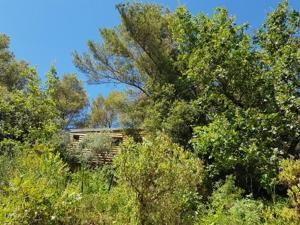
{"type": "Polygon", "coordinates": [[[59,156],[40,145],[15,160],[1,194],[1,224],[74,224],[69,214],[80,193],[65,189],[68,171],[59,156]]]}

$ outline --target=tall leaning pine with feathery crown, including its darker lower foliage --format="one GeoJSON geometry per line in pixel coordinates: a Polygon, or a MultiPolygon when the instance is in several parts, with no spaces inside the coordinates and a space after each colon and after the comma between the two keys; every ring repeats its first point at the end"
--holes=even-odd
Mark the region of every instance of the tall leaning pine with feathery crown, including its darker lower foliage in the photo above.
{"type": "MultiPolygon", "coordinates": [[[[164,130],[187,145],[192,126],[202,123],[204,117],[189,103],[197,93],[195,85],[177,66],[177,42],[169,27],[172,13],[159,5],[141,3],[119,4],[117,10],[121,24],[100,30],[102,45],[89,41],[88,53],[80,56],[75,52],[75,65],[91,83],[116,82],[135,88],[141,97],[131,108],[138,110],[135,116],[140,121],[147,118],[143,127],[164,130]]],[[[130,109],[127,112],[133,118],[130,109]]]]}

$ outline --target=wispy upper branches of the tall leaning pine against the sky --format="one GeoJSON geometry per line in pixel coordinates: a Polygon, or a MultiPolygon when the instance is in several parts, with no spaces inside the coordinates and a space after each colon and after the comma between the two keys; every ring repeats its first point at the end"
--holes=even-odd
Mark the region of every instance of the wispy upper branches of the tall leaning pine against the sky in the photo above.
{"type": "Polygon", "coordinates": [[[167,12],[158,5],[140,3],[119,4],[117,9],[122,24],[115,29],[100,30],[104,44],[99,46],[89,41],[90,54],[81,57],[75,52],[75,65],[88,73],[90,82],[121,82],[148,95],[145,82],[159,73],[164,78],[160,70],[169,69],[167,53],[171,43],[163,30],[166,27],[163,15],[167,12]]]}

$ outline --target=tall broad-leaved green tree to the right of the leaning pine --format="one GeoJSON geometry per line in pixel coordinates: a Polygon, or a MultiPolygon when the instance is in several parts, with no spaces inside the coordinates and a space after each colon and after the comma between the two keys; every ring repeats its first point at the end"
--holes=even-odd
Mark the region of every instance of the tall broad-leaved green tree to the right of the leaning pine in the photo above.
{"type": "Polygon", "coordinates": [[[193,143],[208,180],[233,173],[246,191],[274,194],[279,161],[298,155],[299,12],[282,2],[254,43],[246,28],[225,9],[194,17],[181,7],[172,24],[178,63],[207,118],[193,143]]]}

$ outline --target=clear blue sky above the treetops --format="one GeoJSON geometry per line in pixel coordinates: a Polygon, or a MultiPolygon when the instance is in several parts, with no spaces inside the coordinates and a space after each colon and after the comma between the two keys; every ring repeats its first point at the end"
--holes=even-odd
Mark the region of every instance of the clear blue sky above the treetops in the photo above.
{"type": "MultiPolygon", "coordinates": [[[[41,76],[54,64],[59,74],[76,72],[71,54],[86,50],[89,39],[100,41],[98,29],[119,23],[115,0],[0,0],[0,33],[11,38],[11,50],[18,59],[35,66],[41,76]]],[[[145,2],[145,1],[144,1],[145,2]]],[[[264,21],[279,0],[153,0],[171,9],[186,5],[194,14],[211,14],[215,7],[224,6],[238,23],[250,23],[255,29],[264,21]]],[[[300,0],[290,0],[299,10],[300,0]]],[[[89,96],[107,95],[116,86],[86,85],[89,96]]]]}

